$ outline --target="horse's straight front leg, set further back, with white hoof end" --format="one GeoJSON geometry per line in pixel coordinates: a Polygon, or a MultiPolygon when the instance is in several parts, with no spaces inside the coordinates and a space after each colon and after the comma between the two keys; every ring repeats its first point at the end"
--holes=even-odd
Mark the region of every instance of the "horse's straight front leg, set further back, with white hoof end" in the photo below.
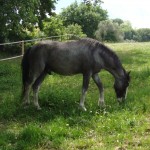
{"type": "Polygon", "coordinates": [[[84,106],[84,102],[85,102],[86,92],[87,92],[87,89],[89,86],[90,77],[91,77],[91,74],[83,75],[82,95],[81,95],[81,99],[80,99],[80,108],[83,111],[86,111],[86,108],[84,106]]]}

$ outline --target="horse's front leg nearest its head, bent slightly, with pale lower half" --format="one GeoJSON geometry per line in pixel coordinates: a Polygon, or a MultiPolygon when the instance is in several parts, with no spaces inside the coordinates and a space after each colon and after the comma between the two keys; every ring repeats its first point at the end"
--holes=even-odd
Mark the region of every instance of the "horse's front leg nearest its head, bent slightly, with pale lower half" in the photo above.
{"type": "Polygon", "coordinates": [[[98,100],[98,106],[102,106],[104,107],[105,106],[105,102],[104,102],[104,89],[103,89],[103,84],[98,76],[98,74],[94,74],[92,75],[92,78],[94,80],[94,82],[96,83],[98,89],[99,89],[99,93],[100,93],[100,96],[99,96],[99,100],[98,100]]]}

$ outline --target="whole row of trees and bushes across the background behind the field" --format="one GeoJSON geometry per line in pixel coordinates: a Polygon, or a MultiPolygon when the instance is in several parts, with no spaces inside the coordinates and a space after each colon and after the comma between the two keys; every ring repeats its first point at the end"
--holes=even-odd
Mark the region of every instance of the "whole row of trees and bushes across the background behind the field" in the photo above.
{"type": "Polygon", "coordinates": [[[101,0],[76,1],[55,13],[58,0],[0,0],[0,43],[62,34],[101,41],[150,41],[150,29],[133,29],[129,21],[110,19],[101,0]]]}

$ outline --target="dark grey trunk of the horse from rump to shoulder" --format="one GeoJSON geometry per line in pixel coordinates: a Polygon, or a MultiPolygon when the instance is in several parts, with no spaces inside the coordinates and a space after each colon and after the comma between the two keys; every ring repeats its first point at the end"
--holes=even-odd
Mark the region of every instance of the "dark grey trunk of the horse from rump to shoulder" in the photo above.
{"type": "Polygon", "coordinates": [[[33,47],[31,57],[32,63],[34,61],[36,66],[43,67],[45,64],[53,72],[70,75],[86,72],[92,67],[91,51],[88,40],[45,41],[33,47]]]}

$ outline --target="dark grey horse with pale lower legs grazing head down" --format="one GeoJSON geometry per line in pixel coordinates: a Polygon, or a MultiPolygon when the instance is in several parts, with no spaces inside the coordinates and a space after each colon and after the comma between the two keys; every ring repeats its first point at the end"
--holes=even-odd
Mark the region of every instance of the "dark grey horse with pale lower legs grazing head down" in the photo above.
{"type": "Polygon", "coordinates": [[[126,98],[130,76],[117,55],[99,41],[84,38],[68,42],[42,41],[29,48],[22,59],[23,103],[29,104],[32,86],[34,105],[40,109],[38,91],[42,81],[51,72],[60,75],[83,75],[80,107],[84,106],[89,80],[92,77],[99,89],[98,105],[104,105],[104,90],[98,73],[105,69],[114,78],[114,89],[119,102],[126,98]]]}

